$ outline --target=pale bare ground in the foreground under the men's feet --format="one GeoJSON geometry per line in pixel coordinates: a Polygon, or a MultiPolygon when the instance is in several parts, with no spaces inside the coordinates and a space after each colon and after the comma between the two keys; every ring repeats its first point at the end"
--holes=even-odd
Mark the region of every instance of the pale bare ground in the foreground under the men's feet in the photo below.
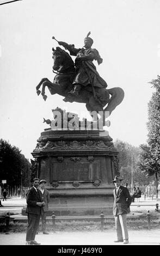
{"type": "MultiPolygon", "coordinates": [[[[160,230],[129,230],[130,243],[128,245],[159,245],[160,230]]],[[[35,240],[41,245],[123,245],[114,243],[114,230],[90,232],[58,231],[44,235],[39,233],[35,240]]],[[[25,245],[26,233],[0,234],[0,245],[25,245]]]]}

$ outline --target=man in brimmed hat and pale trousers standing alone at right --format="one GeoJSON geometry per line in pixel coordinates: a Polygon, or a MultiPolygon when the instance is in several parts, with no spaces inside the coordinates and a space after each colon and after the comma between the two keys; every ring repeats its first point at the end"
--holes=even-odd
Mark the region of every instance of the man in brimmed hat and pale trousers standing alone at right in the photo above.
{"type": "Polygon", "coordinates": [[[128,243],[128,230],[126,216],[130,212],[132,198],[127,187],[121,186],[122,179],[115,176],[113,182],[115,185],[113,215],[115,218],[115,228],[117,240],[114,242],[128,243]],[[124,237],[124,238],[123,238],[124,237]]]}

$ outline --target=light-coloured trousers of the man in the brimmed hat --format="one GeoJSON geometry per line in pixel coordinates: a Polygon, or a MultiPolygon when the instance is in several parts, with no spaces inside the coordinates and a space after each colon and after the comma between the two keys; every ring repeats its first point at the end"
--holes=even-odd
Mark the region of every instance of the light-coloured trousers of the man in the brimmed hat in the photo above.
{"type": "Polygon", "coordinates": [[[126,214],[114,216],[115,218],[115,228],[118,240],[127,239],[128,240],[128,230],[127,230],[127,220],[126,214]]]}

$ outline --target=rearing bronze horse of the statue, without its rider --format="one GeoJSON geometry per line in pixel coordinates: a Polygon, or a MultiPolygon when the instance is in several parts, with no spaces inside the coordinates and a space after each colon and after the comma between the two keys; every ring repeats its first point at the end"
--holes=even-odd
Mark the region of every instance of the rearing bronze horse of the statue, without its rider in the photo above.
{"type": "Polygon", "coordinates": [[[45,95],[45,87],[47,86],[50,93],[59,94],[64,96],[64,101],[85,103],[89,112],[96,111],[103,118],[103,125],[105,125],[105,112],[108,111],[108,116],[112,113],[116,106],[118,106],[124,99],[124,90],[120,87],[114,87],[111,89],[95,87],[96,97],[93,94],[91,86],[83,87],[78,96],[70,95],[69,92],[73,88],[72,82],[75,77],[75,65],[70,57],[69,53],[62,50],[60,47],[56,47],[53,51],[53,72],[57,71],[57,75],[54,77],[53,83],[48,78],[42,78],[38,86],[36,86],[36,93],[43,96],[44,100],[47,99],[45,95]],[[42,86],[42,91],[40,87],[42,86]],[[111,95],[111,97],[110,97],[111,95]],[[107,105],[106,108],[104,108],[107,105]]]}

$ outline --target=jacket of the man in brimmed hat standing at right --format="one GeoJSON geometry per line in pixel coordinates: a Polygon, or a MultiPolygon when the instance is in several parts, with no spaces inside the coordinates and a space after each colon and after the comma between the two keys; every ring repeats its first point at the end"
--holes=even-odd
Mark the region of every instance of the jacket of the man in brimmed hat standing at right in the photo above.
{"type": "Polygon", "coordinates": [[[118,193],[116,194],[116,188],[113,191],[114,204],[113,204],[113,215],[118,216],[121,214],[128,214],[130,212],[130,205],[132,198],[127,187],[120,186],[118,193]]]}

